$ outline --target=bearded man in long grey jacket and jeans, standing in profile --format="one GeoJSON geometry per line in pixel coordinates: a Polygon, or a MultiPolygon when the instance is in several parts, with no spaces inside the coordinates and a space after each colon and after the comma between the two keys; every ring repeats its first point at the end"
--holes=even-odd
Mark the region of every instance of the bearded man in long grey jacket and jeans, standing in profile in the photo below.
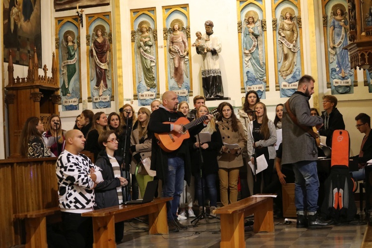
{"type": "MultiPolygon", "coordinates": [[[[314,78],[305,75],[299,80],[297,91],[289,99],[290,111],[296,116],[298,124],[320,128],[323,120],[310,116],[309,99],[314,93],[314,78]]],[[[315,139],[298,124],[295,124],[284,106],[283,109],[283,156],[282,164],[292,164],[295,173],[295,205],[297,228],[309,226],[310,229],[325,227],[331,221],[324,221],[318,209],[319,180],[316,170],[318,151],[315,139]],[[308,212],[308,221],[305,211],[308,212]]]]}

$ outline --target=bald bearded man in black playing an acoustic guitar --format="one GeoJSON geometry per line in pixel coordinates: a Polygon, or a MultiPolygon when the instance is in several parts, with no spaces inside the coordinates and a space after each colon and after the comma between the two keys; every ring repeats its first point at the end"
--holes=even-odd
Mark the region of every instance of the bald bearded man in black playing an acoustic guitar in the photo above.
{"type": "MultiPolygon", "coordinates": [[[[167,91],[163,94],[162,104],[159,109],[152,112],[149,130],[153,133],[164,133],[175,131],[181,133],[183,127],[178,124],[163,124],[164,122],[176,122],[179,118],[184,117],[182,112],[177,111],[178,99],[177,94],[173,91],[167,91]]],[[[212,118],[204,123],[195,125],[188,129],[190,136],[199,133],[212,118]]],[[[181,144],[180,148],[174,152],[163,151],[158,145],[158,140],[152,138],[151,147],[151,169],[156,171],[156,176],[163,181],[163,196],[173,197],[172,201],[167,202],[167,217],[169,232],[178,232],[179,229],[187,229],[186,225],[177,220],[177,208],[180,203],[180,195],[184,188],[184,179],[190,184],[191,179],[191,162],[187,139],[181,144]]]]}

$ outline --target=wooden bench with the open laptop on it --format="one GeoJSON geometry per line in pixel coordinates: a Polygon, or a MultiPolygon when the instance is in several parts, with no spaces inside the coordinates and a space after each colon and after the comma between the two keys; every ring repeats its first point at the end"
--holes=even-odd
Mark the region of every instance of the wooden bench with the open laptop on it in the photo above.
{"type": "Polygon", "coordinates": [[[92,217],[94,248],[112,248],[115,243],[115,223],[142,215],[149,216],[149,234],[168,234],[167,201],[173,197],[155,198],[154,201],[136,205],[120,205],[82,213],[92,217]]]}

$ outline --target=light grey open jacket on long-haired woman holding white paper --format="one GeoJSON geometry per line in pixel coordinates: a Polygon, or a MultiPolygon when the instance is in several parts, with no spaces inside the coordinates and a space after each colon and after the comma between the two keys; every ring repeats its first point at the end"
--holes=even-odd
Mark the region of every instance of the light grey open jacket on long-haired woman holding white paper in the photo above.
{"type": "MultiPolygon", "coordinates": [[[[267,147],[269,151],[269,159],[275,159],[276,157],[276,151],[274,144],[276,143],[276,129],[274,123],[269,120],[267,123],[269,126],[269,131],[270,131],[270,137],[267,140],[258,140],[256,141],[256,147],[267,147]]],[[[250,122],[248,124],[248,141],[247,141],[247,150],[248,150],[248,155],[249,158],[251,158],[253,154],[253,122],[250,122]]]]}

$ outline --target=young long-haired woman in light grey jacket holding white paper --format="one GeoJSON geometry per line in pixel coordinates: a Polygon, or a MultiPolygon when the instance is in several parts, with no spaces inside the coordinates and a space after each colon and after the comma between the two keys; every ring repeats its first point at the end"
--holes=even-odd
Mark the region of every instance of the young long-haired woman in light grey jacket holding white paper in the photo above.
{"type": "MultiPolygon", "coordinates": [[[[276,128],[271,120],[267,118],[265,104],[259,102],[255,105],[256,120],[249,123],[247,149],[250,162],[253,164],[254,156],[258,158],[263,155],[267,162],[267,168],[256,174],[254,181],[253,194],[261,192],[261,182],[263,178],[264,186],[270,182],[274,168],[276,128]],[[255,151],[255,152],[254,152],[255,151]]],[[[259,164],[257,165],[257,169],[259,164]]]]}

